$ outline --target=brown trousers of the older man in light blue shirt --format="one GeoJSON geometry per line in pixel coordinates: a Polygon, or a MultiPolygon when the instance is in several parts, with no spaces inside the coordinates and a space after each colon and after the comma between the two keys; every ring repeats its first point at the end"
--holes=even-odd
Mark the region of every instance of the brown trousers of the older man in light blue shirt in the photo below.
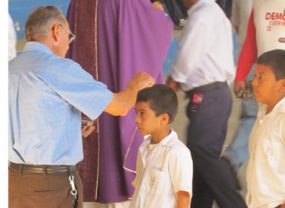
{"type": "MultiPolygon", "coordinates": [[[[78,207],[83,207],[83,189],[78,171],[71,172],[78,190],[78,207]]],[[[58,174],[23,173],[9,170],[9,207],[73,207],[68,172],[58,174]]]]}

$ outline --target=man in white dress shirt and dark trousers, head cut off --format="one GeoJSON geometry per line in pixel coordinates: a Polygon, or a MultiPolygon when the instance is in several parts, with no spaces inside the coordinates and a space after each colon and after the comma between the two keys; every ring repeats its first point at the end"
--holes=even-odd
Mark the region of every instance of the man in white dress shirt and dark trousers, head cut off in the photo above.
{"type": "Polygon", "coordinates": [[[191,207],[247,207],[227,162],[220,160],[232,110],[228,83],[234,80],[232,26],[214,0],[184,0],[188,22],[167,79],[190,99],[187,147],[193,160],[191,207]]]}

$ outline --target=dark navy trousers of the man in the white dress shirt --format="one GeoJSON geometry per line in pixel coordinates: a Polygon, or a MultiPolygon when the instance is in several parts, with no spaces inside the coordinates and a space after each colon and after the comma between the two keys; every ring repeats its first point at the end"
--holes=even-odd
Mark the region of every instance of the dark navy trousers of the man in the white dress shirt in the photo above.
{"type": "Polygon", "coordinates": [[[193,160],[191,207],[212,208],[214,200],[219,208],[247,207],[235,189],[234,175],[229,165],[219,158],[227,135],[232,94],[227,85],[202,94],[199,106],[192,102],[195,95],[190,96],[187,106],[190,119],[187,147],[193,160]]]}

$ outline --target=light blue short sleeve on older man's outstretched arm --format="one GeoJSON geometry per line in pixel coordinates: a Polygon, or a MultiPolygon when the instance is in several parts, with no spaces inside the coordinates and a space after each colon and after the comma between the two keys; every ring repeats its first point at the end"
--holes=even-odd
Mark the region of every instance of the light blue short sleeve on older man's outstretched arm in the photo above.
{"type": "Polygon", "coordinates": [[[91,119],[98,118],[113,99],[113,93],[105,84],[95,81],[73,61],[63,62],[57,71],[39,71],[36,76],[91,119]]]}

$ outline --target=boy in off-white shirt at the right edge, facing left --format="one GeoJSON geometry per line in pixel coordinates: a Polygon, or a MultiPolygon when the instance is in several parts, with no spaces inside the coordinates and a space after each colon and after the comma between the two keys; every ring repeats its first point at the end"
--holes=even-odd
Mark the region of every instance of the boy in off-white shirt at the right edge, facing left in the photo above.
{"type": "Polygon", "coordinates": [[[254,95],[264,105],[249,137],[247,205],[285,207],[285,51],[257,59],[254,95]]]}

